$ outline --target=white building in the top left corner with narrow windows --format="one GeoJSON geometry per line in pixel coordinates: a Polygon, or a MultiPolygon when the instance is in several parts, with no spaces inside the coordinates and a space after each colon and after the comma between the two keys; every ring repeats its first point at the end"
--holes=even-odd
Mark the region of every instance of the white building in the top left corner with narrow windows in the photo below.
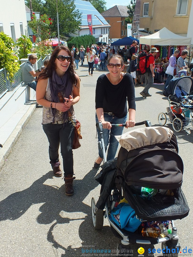
{"type": "Polygon", "coordinates": [[[25,0],[0,0],[0,32],[3,31],[14,41],[21,34],[28,36],[25,0]]]}

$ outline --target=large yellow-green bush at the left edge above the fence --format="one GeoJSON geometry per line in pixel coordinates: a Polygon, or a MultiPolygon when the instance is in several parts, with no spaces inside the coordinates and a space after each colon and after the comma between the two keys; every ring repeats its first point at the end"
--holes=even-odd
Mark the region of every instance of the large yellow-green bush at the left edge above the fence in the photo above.
{"type": "Polygon", "coordinates": [[[15,43],[13,39],[4,32],[0,32],[0,69],[6,69],[10,80],[20,68],[18,58],[15,56],[12,49],[14,47],[15,43]]]}

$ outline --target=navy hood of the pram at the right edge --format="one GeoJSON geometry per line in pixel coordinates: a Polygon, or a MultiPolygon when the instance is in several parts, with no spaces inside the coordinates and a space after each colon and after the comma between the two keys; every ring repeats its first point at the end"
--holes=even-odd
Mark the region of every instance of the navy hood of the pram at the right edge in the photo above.
{"type": "Polygon", "coordinates": [[[176,87],[180,86],[182,90],[187,92],[189,95],[193,90],[193,80],[189,76],[184,76],[181,78],[173,78],[170,80],[168,86],[166,87],[166,93],[168,95],[175,95],[176,87]]]}

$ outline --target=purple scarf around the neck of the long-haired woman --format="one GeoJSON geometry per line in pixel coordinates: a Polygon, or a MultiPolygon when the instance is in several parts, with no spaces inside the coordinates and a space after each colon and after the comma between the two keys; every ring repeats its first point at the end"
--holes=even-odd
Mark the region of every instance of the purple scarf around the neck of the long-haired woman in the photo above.
{"type": "MultiPolygon", "coordinates": [[[[68,78],[68,74],[65,73],[62,78],[60,78],[56,71],[54,70],[52,72],[52,77],[50,78],[50,88],[51,88],[51,101],[55,103],[60,103],[58,98],[58,92],[62,93],[63,97],[69,98],[70,95],[72,95],[72,81],[68,78]]],[[[65,100],[64,100],[65,102],[65,100]]],[[[52,108],[52,114],[53,114],[53,122],[55,120],[56,115],[56,109],[52,108]]],[[[63,114],[63,121],[68,117],[68,112],[64,112],[63,114]]]]}

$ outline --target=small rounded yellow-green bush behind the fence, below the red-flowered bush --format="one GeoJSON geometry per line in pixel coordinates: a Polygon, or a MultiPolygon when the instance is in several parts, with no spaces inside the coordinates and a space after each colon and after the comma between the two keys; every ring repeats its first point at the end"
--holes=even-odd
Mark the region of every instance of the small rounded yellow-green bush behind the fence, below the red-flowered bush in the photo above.
{"type": "Polygon", "coordinates": [[[31,52],[32,42],[27,36],[21,35],[16,41],[16,46],[18,49],[18,58],[27,58],[28,53],[31,52]]]}

